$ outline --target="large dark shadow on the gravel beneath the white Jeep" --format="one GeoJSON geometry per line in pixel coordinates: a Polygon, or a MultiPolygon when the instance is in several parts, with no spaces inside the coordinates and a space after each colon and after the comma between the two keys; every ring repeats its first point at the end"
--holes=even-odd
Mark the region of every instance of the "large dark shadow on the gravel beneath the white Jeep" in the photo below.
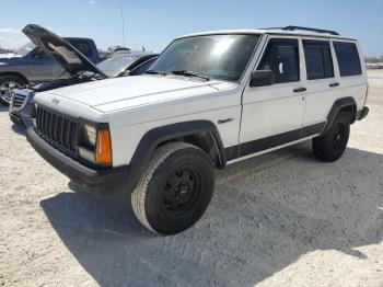
{"type": "Polygon", "coordinates": [[[358,149],[321,163],[303,144],[228,167],[202,219],[174,237],[70,187],[40,205],[101,286],[254,286],[316,250],[364,260],[357,248],[383,239],[383,156],[358,149]]]}

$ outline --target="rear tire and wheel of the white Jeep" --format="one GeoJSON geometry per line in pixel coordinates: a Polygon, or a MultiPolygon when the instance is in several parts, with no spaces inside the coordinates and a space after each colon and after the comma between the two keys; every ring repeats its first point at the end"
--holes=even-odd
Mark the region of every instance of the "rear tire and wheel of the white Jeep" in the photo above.
{"type": "Polygon", "coordinates": [[[339,112],[330,128],[321,137],[313,139],[313,151],[324,162],[338,160],[346,150],[350,135],[350,116],[339,112]]]}

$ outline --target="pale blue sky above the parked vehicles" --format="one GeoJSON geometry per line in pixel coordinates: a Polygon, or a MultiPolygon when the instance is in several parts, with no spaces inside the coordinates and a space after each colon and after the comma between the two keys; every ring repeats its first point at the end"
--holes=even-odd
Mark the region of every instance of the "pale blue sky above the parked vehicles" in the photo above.
{"type": "Polygon", "coordinates": [[[220,28],[290,24],[336,30],[358,38],[365,56],[383,55],[383,0],[0,0],[0,46],[27,41],[20,31],[30,23],[61,36],[92,37],[98,47],[123,45],[161,51],[176,36],[220,28]],[[8,11],[8,12],[4,12],[8,11]]]}

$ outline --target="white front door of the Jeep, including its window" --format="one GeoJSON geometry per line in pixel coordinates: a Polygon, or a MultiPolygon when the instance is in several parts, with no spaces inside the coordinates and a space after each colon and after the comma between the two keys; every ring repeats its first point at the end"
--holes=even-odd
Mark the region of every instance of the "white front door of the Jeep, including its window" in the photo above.
{"type": "Polygon", "coordinates": [[[305,73],[297,37],[269,36],[255,70],[271,70],[274,84],[244,90],[240,157],[301,139],[305,73]]]}

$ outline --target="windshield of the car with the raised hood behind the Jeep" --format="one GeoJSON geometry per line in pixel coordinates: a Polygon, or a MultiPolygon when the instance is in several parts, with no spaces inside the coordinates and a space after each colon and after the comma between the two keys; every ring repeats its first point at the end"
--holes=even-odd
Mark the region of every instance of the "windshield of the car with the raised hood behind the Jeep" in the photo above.
{"type": "Polygon", "coordinates": [[[117,77],[127,67],[134,64],[142,56],[132,56],[127,54],[113,55],[111,58],[103,60],[97,65],[97,68],[105,72],[108,77],[117,77]]]}

